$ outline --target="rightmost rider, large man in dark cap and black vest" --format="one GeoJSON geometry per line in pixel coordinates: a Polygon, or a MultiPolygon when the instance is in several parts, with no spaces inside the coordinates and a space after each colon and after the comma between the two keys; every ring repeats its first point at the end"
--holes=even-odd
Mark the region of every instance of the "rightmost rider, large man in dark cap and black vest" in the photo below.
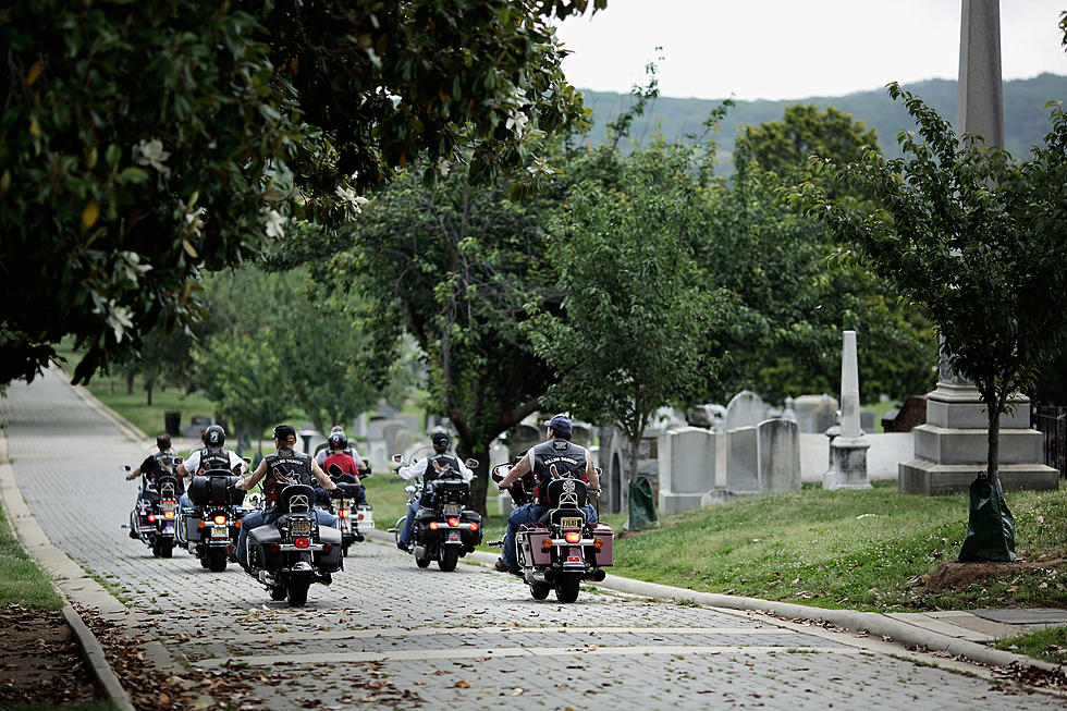
{"type": "MultiPolygon", "coordinates": [[[[531,446],[519,462],[511,468],[507,475],[498,483],[501,491],[506,491],[528,471],[534,471],[537,486],[534,490],[534,502],[523,504],[507,516],[507,534],[504,535],[504,549],[496,560],[495,568],[501,573],[517,573],[518,560],[515,554],[515,532],[519,526],[532,524],[544,515],[548,506],[542,505],[539,497],[545,490],[552,473],[549,467],[553,464],[563,476],[580,478],[582,474],[589,478],[589,491],[600,491],[600,475],[592,466],[592,457],[588,450],[571,442],[572,422],[566,415],[556,415],[544,422],[548,434],[544,442],[531,446]]],[[[597,510],[592,504],[586,504],[587,523],[597,523],[597,510]]]]}

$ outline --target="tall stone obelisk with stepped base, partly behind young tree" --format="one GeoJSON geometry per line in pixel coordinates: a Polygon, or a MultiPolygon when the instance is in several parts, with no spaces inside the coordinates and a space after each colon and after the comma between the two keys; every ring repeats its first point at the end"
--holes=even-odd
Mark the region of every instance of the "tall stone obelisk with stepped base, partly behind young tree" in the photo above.
{"type": "MultiPolygon", "coordinates": [[[[956,135],[964,134],[1004,146],[998,0],[962,0],[956,135]]],[[[1029,429],[1029,400],[1017,395],[1011,403],[1014,412],[1001,416],[1001,486],[1056,489],[1058,473],[1043,463],[1042,434],[1029,429]]],[[[937,388],[927,394],[927,424],[915,428],[915,458],[899,465],[900,492],[967,491],[986,468],[986,426],[978,389],[943,359],[937,388]]]]}

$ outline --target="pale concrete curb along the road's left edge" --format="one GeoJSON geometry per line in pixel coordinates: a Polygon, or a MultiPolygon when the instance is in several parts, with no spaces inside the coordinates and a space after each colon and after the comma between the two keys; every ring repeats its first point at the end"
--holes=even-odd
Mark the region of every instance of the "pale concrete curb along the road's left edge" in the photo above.
{"type": "Polygon", "coordinates": [[[15,482],[14,471],[8,458],[8,438],[2,430],[0,430],[0,500],[3,502],[8,520],[20,543],[48,574],[57,591],[63,597],[63,617],[77,639],[85,663],[100,689],[107,694],[119,711],[135,711],[130,695],[122,688],[119,677],[108,663],[99,640],[71,605],[71,598],[64,586],[59,584],[63,579],[84,579],[85,572],[65,553],[51,544],[37,524],[37,519],[29,512],[15,482]]]}

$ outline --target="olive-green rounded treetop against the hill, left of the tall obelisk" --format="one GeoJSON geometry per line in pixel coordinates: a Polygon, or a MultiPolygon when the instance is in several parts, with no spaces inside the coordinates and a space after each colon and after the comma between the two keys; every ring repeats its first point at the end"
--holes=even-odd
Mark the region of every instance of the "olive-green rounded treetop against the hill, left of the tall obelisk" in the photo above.
{"type": "MultiPolygon", "coordinates": [[[[782,121],[746,126],[737,137],[737,150],[790,183],[809,156],[850,162],[860,160],[868,150],[882,152],[876,131],[868,131],[862,121],[835,107],[820,111],[814,105],[802,103],[786,107],[782,121]]],[[[827,185],[825,189],[832,197],[862,197],[847,185],[827,185]]]]}

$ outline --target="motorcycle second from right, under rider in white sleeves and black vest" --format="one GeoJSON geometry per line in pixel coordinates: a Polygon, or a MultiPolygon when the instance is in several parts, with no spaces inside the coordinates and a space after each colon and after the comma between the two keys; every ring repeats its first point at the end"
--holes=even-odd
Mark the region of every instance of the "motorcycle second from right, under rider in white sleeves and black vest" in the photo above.
{"type": "MultiPolygon", "coordinates": [[[[401,455],[393,455],[393,462],[401,464],[401,455]]],[[[478,467],[477,459],[467,459],[464,464],[470,469],[478,467]]],[[[481,542],[481,516],[466,508],[470,485],[459,477],[458,471],[446,469],[439,471],[439,478],[428,483],[418,479],[416,483],[405,487],[404,491],[408,495],[408,505],[419,502],[412,527],[415,564],[425,568],[430,561],[437,561],[441,571],[454,571],[459,559],[474,552],[481,542]]],[[[401,516],[396,519],[396,526],[389,529],[397,542],[406,522],[407,516],[401,516]]]]}

